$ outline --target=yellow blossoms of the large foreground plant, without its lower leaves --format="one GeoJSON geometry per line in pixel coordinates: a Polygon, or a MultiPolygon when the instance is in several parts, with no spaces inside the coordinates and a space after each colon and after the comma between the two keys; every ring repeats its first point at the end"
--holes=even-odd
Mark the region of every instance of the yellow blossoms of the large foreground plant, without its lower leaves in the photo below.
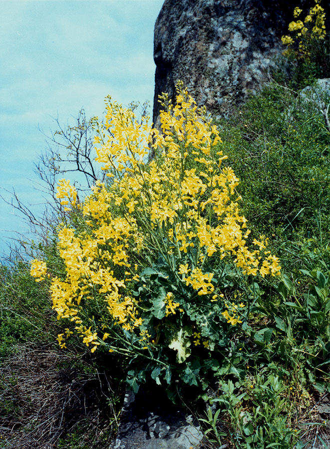
{"type": "MultiPolygon", "coordinates": [[[[121,341],[118,332],[142,335],[143,304],[131,286],[150,257],[162,255],[173,276],[200,296],[214,292],[214,274],[203,270],[214,254],[231,257],[244,274],[280,273],[278,258],[264,251],[262,237],[252,242],[253,249],[247,245],[250,231],[235,193],[239,180],[222,167],[226,157],[217,151],[216,126],[182,84],[175,106],[166,96],[163,102],[161,134],[148,125],[148,117],[138,121],[131,110],[109,101],[95,138],[96,160],[108,184],[97,182],[81,205],[68,181],[58,185],[57,197],[75,211],[75,224],[58,229],[65,275],[52,279],[53,308],[58,318],[74,323],[92,352],[111,345],[109,337],[121,341]],[[150,147],[155,157],[147,163],[150,147]]],[[[32,261],[37,280],[45,272],[43,262],[32,261]]],[[[169,292],[166,316],[183,312],[179,306],[169,292]]],[[[232,316],[234,321],[239,317],[232,316]]]]}

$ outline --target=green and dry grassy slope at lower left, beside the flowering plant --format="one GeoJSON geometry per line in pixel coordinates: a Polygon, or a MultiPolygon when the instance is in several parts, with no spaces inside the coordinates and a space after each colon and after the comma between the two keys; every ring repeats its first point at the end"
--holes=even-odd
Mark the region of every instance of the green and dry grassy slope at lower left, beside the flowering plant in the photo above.
{"type": "Polygon", "coordinates": [[[120,382],[104,361],[59,349],[62,326],[28,264],[1,266],[0,276],[0,448],[107,448],[120,382]]]}

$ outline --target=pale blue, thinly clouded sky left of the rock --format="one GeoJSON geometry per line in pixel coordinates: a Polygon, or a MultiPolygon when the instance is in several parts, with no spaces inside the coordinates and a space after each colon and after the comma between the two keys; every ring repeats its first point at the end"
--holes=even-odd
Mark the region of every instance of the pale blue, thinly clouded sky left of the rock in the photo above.
{"type": "MultiPolygon", "coordinates": [[[[33,162],[55,130],[81,107],[101,115],[108,94],[119,103],[149,100],[153,29],[164,0],[0,0],[0,195],[42,209],[33,162]]],[[[73,122],[72,122],[73,123],[73,122]]],[[[24,222],[0,200],[0,253],[24,222]]]]}

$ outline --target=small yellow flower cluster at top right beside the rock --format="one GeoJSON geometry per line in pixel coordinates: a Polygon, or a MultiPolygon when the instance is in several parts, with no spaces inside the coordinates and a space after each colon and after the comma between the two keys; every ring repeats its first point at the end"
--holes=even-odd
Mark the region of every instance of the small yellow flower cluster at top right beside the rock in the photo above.
{"type": "MultiPolygon", "coordinates": [[[[312,7],[303,20],[296,20],[289,23],[289,31],[292,36],[282,36],[282,43],[289,48],[296,42],[302,56],[308,57],[310,54],[309,45],[313,40],[323,40],[326,37],[326,14],[320,5],[321,0],[315,0],[316,5],[312,7]]],[[[294,17],[297,18],[302,13],[302,9],[296,7],[294,17]]]]}

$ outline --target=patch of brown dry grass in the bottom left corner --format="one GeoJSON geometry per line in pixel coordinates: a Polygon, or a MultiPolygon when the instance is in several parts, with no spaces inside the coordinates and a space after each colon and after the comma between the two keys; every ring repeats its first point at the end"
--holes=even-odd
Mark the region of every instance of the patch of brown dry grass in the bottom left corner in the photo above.
{"type": "Polygon", "coordinates": [[[59,439],[79,425],[94,442],[111,434],[104,412],[114,413],[111,387],[104,375],[81,367],[79,371],[76,358],[49,347],[25,345],[1,362],[0,447],[56,448],[59,439]]]}

